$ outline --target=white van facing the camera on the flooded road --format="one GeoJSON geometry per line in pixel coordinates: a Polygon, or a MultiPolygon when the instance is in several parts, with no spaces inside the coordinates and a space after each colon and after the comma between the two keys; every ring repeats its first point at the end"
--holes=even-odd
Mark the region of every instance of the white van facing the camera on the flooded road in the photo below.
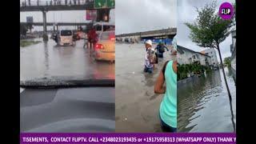
{"type": "Polygon", "coordinates": [[[60,30],[58,44],[60,46],[73,46],[73,32],[72,30],[60,30]]]}

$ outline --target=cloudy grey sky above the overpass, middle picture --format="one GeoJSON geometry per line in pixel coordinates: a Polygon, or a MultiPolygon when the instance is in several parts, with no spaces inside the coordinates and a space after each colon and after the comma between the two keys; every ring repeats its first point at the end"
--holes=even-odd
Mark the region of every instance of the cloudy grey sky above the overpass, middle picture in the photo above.
{"type": "Polygon", "coordinates": [[[177,0],[115,0],[116,34],[176,27],[177,0]]]}

